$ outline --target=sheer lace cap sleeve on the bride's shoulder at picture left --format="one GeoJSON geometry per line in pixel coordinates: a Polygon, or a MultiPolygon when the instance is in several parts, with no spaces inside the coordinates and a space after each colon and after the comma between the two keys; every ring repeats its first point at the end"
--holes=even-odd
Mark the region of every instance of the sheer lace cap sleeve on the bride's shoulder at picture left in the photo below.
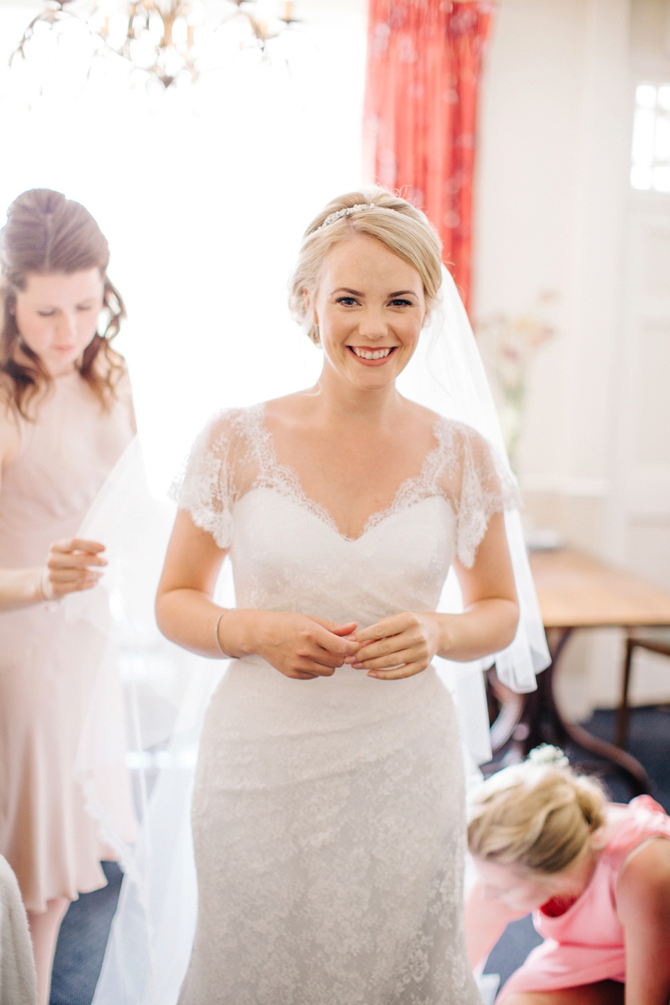
{"type": "Polygon", "coordinates": [[[236,499],[257,482],[262,462],[262,406],[225,409],[196,438],[170,497],[219,548],[229,548],[236,499]]]}

